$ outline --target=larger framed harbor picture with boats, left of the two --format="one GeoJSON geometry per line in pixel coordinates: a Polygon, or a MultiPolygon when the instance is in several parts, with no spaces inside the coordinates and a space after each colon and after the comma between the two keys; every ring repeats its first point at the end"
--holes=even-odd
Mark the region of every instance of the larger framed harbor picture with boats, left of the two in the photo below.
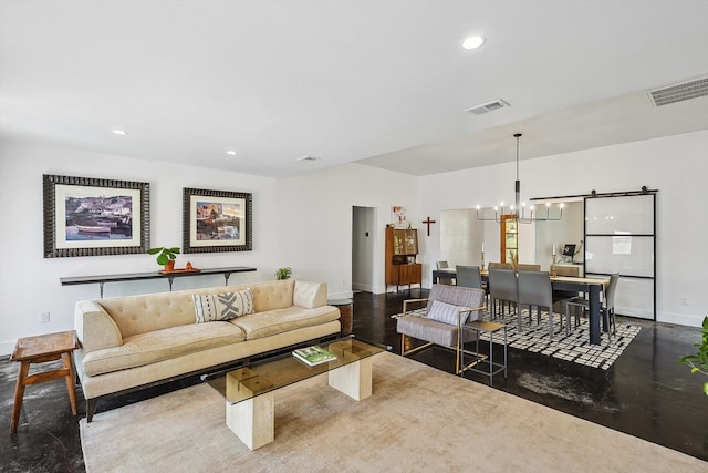
{"type": "Polygon", "coordinates": [[[149,248],[149,184],[44,174],[44,258],[149,248]]]}

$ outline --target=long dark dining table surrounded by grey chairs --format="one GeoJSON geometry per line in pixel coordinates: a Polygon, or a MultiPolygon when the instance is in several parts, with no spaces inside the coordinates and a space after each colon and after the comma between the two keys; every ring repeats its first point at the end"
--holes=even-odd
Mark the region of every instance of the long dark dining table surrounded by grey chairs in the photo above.
{"type": "MultiPolygon", "coordinates": [[[[456,276],[457,271],[455,270],[455,268],[434,269],[433,282],[439,284],[440,279],[456,279],[456,276]]],[[[489,273],[487,270],[481,271],[481,276],[483,281],[489,281],[489,273]]],[[[553,288],[553,290],[587,294],[591,345],[600,345],[602,335],[601,319],[602,331],[607,332],[610,330],[607,321],[601,317],[602,292],[606,289],[607,282],[608,279],[605,278],[576,278],[571,276],[551,277],[551,287],[553,288]]]]}

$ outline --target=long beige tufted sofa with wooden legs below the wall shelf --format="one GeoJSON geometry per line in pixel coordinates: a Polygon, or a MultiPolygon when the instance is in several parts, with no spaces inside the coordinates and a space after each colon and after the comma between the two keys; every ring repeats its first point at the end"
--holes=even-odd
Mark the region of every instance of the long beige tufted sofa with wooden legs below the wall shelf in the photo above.
{"type": "Polygon", "coordinates": [[[76,302],[76,372],[91,422],[98,399],[340,332],[326,284],[278,280],[76,302]],[[195,294],[250,288],[253,313],[195,322],[195,294]]]}

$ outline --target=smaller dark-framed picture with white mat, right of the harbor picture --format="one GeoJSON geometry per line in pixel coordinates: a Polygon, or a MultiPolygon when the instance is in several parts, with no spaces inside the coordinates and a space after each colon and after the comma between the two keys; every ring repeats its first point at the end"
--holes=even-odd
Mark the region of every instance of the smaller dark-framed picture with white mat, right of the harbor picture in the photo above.
{"type": "Polygon", "coordinates": [[[250,251],[251,194],[185,188],[183,253],[250,251]]]}

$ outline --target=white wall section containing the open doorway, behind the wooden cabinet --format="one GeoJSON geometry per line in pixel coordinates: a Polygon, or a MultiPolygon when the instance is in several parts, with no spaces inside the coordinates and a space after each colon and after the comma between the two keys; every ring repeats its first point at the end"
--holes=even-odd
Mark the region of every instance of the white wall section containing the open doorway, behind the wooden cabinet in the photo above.
{"type": "MultiPolygon", "coordinates": [[[[417,212],[418,179],[389,171],[346,164],[296,177],[280,179],[279,218],[288,233],[287,266],[295,277],[327,282],[330,295],[352,295],[352,207],[376,208],[374,238],[375,292],[384,292],[384,229],[391,222],[391,208],[407,208],[414,226],[423,218],[417,212]]],[[[418,224],[420,225],[420,224],[418,224]]],[[[420,253],[424,238],[418,236],[420,253]]]]}

